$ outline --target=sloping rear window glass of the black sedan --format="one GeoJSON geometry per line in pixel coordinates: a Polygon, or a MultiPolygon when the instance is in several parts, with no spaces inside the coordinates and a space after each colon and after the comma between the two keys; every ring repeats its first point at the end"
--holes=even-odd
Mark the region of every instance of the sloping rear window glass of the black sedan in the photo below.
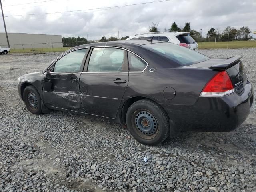
{"type": "Polygon", "coordinates": [[[171,60],[174,60],[183,66],[196,64],[210,59],[203,54],[173,43],[154,43],[142,46],[171,60]]]}

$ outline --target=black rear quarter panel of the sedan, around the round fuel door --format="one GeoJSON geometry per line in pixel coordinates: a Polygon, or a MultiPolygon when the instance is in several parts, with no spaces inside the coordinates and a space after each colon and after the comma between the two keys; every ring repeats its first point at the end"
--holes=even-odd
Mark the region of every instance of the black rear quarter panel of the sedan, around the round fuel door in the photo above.
{"type": "Polygon", "coordinates": [[[209,69],[161,68],[161,66],[149,64],[143,73],[129,73],[129,83],[124,99],[143,96],[159,104],[193,105],[214,74],[216,72],[209,69]],[[149,72],[148,69],[152,67],[155,71],[149,72]],[[164,98],[163,91],[166,87],[172,87],[176,91],[176,96],[172,100],[164,98]]]}

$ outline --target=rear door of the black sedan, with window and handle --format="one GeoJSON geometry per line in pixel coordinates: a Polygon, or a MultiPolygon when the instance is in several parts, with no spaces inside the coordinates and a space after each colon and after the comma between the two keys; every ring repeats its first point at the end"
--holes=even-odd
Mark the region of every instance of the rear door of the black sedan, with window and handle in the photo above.
{"type": "Polygon", "coordinates": [[[82,106],[88,114],[115,118],[128,85],[127,51],[93,48],[80,76],[82,106]]]}

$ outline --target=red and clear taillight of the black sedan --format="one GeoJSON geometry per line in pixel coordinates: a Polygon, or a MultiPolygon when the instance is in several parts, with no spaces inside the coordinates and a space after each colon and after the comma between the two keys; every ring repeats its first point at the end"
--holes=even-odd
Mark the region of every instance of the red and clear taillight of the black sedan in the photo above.
{"type": "Polygon", "coordinates": [[[204,86],[201,97],[204,96],[224,96],[234,92],[234,86],[226,71],[218,72],[207,84],[204,86]]]}

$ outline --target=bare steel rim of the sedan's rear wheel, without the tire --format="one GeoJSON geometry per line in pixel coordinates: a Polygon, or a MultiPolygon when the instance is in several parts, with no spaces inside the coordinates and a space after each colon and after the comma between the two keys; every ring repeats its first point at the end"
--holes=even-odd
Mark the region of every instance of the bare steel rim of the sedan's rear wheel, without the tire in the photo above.
{"type": "Polygon", "coordinates": [[[153,135],[157,130],[156,118],[148,111],[140,111],[136,114],[135,125],[139,132],[144,135],[153,135]]]}

